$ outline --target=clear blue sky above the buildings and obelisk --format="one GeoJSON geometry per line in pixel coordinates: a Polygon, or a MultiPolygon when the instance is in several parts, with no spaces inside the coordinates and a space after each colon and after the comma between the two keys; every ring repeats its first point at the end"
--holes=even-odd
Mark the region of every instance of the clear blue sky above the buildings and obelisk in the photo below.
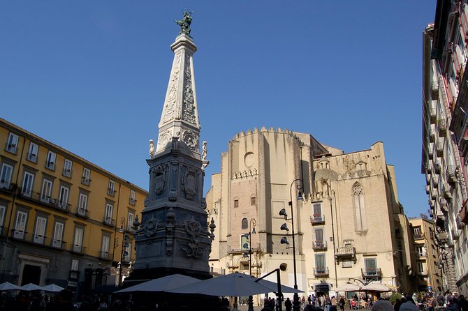
{"type": "Polygon", "coordinates": [[[383,142],[400,202],[418,215],[422,32],[435,2],[0,1],[0,116],[147,189],[187,8],[205,192],[237,132],[288,128],[346,152],[383,142]]]}

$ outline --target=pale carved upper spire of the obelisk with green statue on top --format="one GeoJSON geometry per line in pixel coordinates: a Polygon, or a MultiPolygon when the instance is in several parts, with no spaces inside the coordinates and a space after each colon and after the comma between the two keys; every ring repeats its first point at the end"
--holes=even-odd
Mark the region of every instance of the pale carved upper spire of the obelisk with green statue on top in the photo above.
{"type": "Polygon", "coordinates": [[[174,52],[174,61],[159,121],[156,153],[170,146],[168,143],[177,137],[191,151],[198,153],[199,157],[200,122],[193,75],[193,53],[197,49],[190,36],[190,13],[184,12],[184,18],[175,22],[180,25],[180,34],[170,46],[174,52]]]}

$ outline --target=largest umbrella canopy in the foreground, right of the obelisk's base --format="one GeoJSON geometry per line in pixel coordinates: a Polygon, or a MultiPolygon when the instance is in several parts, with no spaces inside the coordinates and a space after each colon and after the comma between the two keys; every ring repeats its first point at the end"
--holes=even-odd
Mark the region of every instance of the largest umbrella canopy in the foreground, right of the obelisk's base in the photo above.
{"type": "Polygon", "coordinates": [[[245,278],[245,276],[240,275],[221,275],[217,278],[170,289],[168,292],[210,296],[251,296],[271,292],[270,288],[255,282],[255,280],[255,278],[245,278]]]}

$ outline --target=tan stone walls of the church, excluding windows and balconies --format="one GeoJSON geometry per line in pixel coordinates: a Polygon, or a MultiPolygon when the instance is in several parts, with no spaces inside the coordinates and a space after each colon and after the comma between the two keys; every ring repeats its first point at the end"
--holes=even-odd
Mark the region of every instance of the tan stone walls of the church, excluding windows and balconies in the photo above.
{"type": "MultiPolygon", "coordinates": [[[[219,268],[226,268],[227,272],[240,269],[249,273],[248,269],[245,270],[248,264],[242,265],[246,260],[248,263],[248,259],[233,250],[241,246],[240,235],[249,232],[242,229],[242,218],[255,218],[258,234],[252,239],[252,247],[258,243],[261,253],[253,257],[254,274],[265,274],[278,268],[279,264],[286,264],[281,280],[293,286],[292,250],[279,241],[285,234],[291,234],[294,225],[298,285],[306,293],[320,282],[332,285],[330,290],[333,290],[348,282],[349,278],[362,278],[365,259],[376,259],[377,268],[382,272],[382,282],[397,285],[400,279],[396,266],[400,261],[395,259],[395,228],[402,220],[398,216],[394,218],[394,214],[400,213],[395,172],[393,167],[386,165],[383,144],[377,142],[368,150],[353,153],[329,149],[327,151],[310,135],[294,135],[288,130],[263,129],[236,135],[229,144],[227,156],[222,156],[221,177],[212,179],[212,183],[220,185],[221,190],[212,188],[212,193],[207,195],[207,198],[212,197],[212,202],[219,200],[220,210],[226,211],[219,213],[218,219],[221,226],[219,241],[226,239],[226,251],[219,247],[220,259],[216,262],[219,268]],[[325,162],[315,155],[327,153],[332,154],[326,158],[328,170],[319,172],[325,162]],[[326,183],[320,183],[323,176],[333,177],[326,183]],[[295,179],[304,181],[302,201],[296,199],[298,183],[293,183],[295,179]],[[362,186],[364,194],[363,217],[367,226],[361,231],[356,231],[353,198],[356,183],[362,186]],[[251,206],[249,199],[254,194],[257,204],[251,206]],[[285,208],[291,217],[291,206],[288,205],[291,197],[293,223],[278,215],[279,210],[285,208]],[[237,208],[233,207],[234,199],[239,200],[237,208]],[[313,204],[317,202],[322,204],[323,225],[312,225],[310,220],[314,214],[313,204]],[[279,229],[284,222],[289,232],[279,229]],[[323,239],[327,243],[325,250],[312,248],[317,228],[323,229],[323,239]],[[351,242],[356,248],[356,264],[350,267],[343,267],[342,263],[336,265],[335,261],[335,249],[343,247],[344,241],[351,242]],[[314,275],[316,255],[319,254],[325,255],[328,268],[328,275],[323,277],[314,275]]],[[[287,238],[291,247],[291,235],[287,238]]]]}

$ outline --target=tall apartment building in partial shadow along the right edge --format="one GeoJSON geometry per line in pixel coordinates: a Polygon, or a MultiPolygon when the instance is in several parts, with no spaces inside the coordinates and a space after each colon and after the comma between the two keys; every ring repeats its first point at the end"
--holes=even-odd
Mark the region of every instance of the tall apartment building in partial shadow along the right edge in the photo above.
{"type": "Polygon", "coordinates": [[[468,294],[467,1],[437,1],[423,31],[423,155],[442,289],[468,294]]]}

